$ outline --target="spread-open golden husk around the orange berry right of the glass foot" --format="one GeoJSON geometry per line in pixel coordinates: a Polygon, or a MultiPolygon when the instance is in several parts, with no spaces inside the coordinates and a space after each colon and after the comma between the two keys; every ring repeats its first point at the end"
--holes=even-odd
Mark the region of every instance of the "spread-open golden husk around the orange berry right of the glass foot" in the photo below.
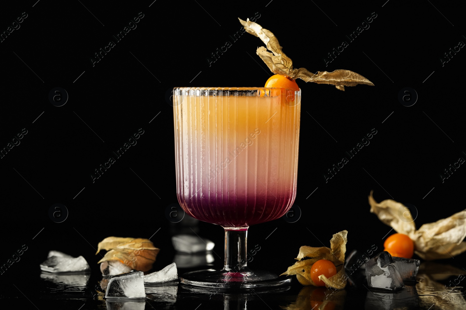
{"type": "Polygon", "coordinates": [[[310,247],[302,246],[299,249],[298,257],[295,259],[299,260],[293,266],[288,267],[288,270],[283,272],[281,275],[296,275],[296,278],[302,285],[315,285],[311,279],[311,268],[312,265],[320,260],[327,259],[335,264],[336,275],[333,277],[320,276],[319,279],[325,283],[327,288],[334,288],[341,290],[346,286],[345,269],[343,263],[345,261],[346,242],[348,231],[340,231],[333,235],[330,240],[330,248],[322,247],[310,247]],[[305,257],[310,257],[303,259],[305,257]]]}

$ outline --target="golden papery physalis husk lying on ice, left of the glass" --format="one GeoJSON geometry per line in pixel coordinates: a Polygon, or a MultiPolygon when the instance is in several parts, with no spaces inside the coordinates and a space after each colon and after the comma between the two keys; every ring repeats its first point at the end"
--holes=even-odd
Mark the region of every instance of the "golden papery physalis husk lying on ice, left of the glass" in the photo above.
{"type": "Polygon", "coordinates": [[[99,242],[97,253],[107,250],[104,257],[98,261],[117,260],[131,269],[149,271],[155,262],[160,249],[154,247],[152,241],[143,238],[107,237],[99,242]],[[110,250],[110,251],[109,251],[110,250]]]}

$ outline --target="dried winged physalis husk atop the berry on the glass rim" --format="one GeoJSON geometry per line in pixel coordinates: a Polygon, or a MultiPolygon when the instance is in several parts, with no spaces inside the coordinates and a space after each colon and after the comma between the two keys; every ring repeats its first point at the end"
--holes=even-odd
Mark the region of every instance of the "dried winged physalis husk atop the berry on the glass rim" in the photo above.
{"type": "Polygon", "coordinates": [[[317,71],[316,73],[311,73],[306,68],[293,69],[293,62],[282,52],[277,37],[273,33],[262,28],[259,24],[249,21],[249,19],[246,21],[239,20],[247,33],[259,37],[267,45],[267,48],[264,46],[258,47],[256,53],[265,62],[270,71],[275,74],[284,75],[289,79],[303,79],[306,82],[335,85],[337,89],[342,91],[345,90],[344,86],[356,86],[357,84],[374,86],[370,80],[349,70],[335,70],[333,72],[317,71]],[[267,52],[267,49],[272,53],[267,52]]]}

